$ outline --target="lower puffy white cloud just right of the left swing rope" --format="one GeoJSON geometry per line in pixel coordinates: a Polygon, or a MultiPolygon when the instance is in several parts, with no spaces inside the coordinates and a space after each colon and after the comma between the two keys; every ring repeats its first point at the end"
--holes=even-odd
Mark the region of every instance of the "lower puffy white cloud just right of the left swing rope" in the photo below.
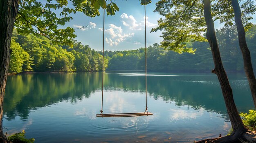
{"type": "Polygon", "coordinates": [[[118,45],[120,42],[124,42],[127,38],[134,36],[134,33],[123,34],[123,29],[121,26],[116,26],[114,24],[109,24],[110,28],[106,29],[105,32],[110,38],[105,38],[106,43],[110,46],[118,45]]]}

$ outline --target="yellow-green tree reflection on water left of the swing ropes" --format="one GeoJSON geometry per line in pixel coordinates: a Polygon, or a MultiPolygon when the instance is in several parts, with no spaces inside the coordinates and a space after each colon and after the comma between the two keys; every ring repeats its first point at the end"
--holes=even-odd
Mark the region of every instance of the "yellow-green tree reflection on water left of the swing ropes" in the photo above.
{"type": "Polygon", "coordinates": [[[99,85],[99,73],[27,74],[8,77],[4,113],[8,120],[17,115],[27,119],[29,110],[71,99],[89,97],[99,85]]]}

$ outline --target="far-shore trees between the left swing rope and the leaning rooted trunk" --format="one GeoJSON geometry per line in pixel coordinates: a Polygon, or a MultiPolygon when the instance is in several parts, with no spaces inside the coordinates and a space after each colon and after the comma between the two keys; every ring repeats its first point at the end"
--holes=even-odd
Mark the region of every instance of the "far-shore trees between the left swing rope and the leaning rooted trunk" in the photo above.
{"type": "MultiPolygon", "coordinates": [[[[155,43],[147,48],[147,70],[160,72],[206,72],[212,65],[211,51],[206,42],[188,43],[197,47],[195,54],[178,54],[155,43]],[[191,60],[193,59],[193,60],[191,60]]],[[[107,51],[107,70],[145,70],[145,48],[130,51],[107,51]]]]}

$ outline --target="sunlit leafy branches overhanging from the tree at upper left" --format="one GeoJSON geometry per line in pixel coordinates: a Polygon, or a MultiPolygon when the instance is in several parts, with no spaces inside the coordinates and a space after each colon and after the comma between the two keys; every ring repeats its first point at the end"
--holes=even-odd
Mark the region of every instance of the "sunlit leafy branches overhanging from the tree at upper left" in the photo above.
{"type": "Polygon", "coordinates": [[[72,39],[76,37],[74,29],[57,29],[58,25],[65,25],[72,20],[68,16],[70,13],[76,13],[74,9],[67,6],[67,0],[47,0],[43,3],[37,0],[23,0],[20,2],[18,15],[15,20],[15,28],[20,34],[43,35],[54,44],[72,45],[72,39]],[[56,9],[60,14],[56,14],[56,9]]]}

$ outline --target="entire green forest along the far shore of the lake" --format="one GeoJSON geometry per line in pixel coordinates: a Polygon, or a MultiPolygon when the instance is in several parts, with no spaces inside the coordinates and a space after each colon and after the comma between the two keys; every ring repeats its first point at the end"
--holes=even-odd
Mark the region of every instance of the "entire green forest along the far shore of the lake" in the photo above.
{"type": "MultiPolygon", "coordinates": [[[[236,26],[216,30],[220,54],[226,71],[243,72],[243,58],[236,26]]],[[[247,44],[256,67],[256,25],[246,32],[247,44]]],[[[74,41],[73,47],[54,45],[43,36],[19,35],[13,31],[9,73],[102,71],[102,51],[74,41]]],[[[194,53],[176,53],[155,43],[147,48],[147,70],[157,72],[210,72],[212,55],[207,42],[193,39],[187,46],[194,53]]],[[[131,47],[132,48],[132,47],[131,47]]],[[[144,48],[129,51],[105,51],[104,70],[144,70],[144,48]]]]}

